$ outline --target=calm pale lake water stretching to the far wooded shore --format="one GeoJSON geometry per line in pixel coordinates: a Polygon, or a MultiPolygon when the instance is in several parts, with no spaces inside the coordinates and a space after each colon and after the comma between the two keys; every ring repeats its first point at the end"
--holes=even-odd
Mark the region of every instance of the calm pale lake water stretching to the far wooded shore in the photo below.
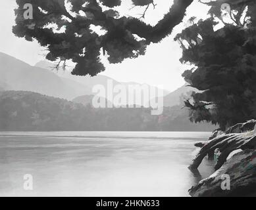
{"type": "Polygon", "coordinates": [[[0,132],[0,196],[189,196],[199,132],[0,132]],[[24,190],[24,175],[33,190],[24,190]]]}

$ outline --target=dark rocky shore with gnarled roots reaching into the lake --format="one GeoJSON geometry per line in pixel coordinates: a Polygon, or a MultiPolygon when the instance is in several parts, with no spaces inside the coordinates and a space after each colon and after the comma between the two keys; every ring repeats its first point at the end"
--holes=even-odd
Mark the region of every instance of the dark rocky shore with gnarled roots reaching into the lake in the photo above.
{"type": "Polygon", "coordinates": [[[193,186],[193,197],[256,196],[256,120],[239,123],[226,132],[215,131],[209,140],[195,144],[201,150],[190,169],[201,161],[215,158],[215,173],[193,186]],[[223,186],[223,185],[230,186],[223,186]]]}

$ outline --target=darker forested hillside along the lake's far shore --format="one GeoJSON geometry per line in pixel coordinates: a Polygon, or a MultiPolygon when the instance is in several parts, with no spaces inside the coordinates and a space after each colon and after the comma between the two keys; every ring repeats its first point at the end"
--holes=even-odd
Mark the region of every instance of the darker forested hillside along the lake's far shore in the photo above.
{"type": "Polygon", "coordinates": [[[213,131],[193,124],[181,106],[151,116],[150,108],[99,108],[28,91],[0,92],[1,131],[213,131]]]}

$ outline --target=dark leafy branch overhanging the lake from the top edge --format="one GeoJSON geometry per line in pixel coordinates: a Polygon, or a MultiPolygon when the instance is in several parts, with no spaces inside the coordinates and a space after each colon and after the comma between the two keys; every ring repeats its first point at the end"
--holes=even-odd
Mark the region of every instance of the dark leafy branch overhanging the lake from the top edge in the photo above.
{"type": "MultiPolygon", "coordinates": [[[[99,58],[102,51],[112,64],[145,54],[147,45],[158,43],[182,22],[192,2],[174,0],[163,19],[151,26],[143,22],[144,16],[120,16],[116,8],[122,0],[16,0],[13,33],[28,41],[36,39],[47,47],[48,60],[59,60],[63,65],[72,60],[76,63],[72,74],[93,76],[105,70],[99,58]],[[24,5],[28,3],[33,8],[32,19],[24,18],[24,5]],[[58,30],[64,27],[64,31],[47,27],[50,24],[58,30]],[[106,33],[99,35],[91,26],[101,27],[106,33]]],[[[155,7],[153,0],[132,0],[132,3],[145,11],[150,5],[155,7]]]]}

